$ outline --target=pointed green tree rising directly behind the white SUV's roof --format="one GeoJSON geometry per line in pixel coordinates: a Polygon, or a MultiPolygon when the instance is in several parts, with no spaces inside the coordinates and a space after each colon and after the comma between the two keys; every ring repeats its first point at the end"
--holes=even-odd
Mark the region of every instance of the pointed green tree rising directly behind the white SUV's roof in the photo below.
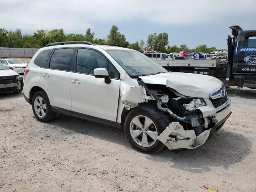
{"type": "Polygon", "coordinates": [[[112,26],[110,33],[107,36],[107,44],[122,45],[124,47],[129,46],[129,42],[126,41],[126,38],[123,34],[118,32],[118,27],[115,25],[112,26]]]}

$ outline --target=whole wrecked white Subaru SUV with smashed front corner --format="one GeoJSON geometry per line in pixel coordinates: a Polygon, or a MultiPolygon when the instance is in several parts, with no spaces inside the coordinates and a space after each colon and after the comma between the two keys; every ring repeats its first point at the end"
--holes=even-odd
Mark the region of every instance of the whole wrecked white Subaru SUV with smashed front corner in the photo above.
{"type": "Polygon", "coordinates": [[[220,80],[169,72],[120,46],[49,44],[36,52],[24,78],[24,98],[39,121],[60,113],[124,128],[142,152],[195,149],[231,114],[220,80]]]}

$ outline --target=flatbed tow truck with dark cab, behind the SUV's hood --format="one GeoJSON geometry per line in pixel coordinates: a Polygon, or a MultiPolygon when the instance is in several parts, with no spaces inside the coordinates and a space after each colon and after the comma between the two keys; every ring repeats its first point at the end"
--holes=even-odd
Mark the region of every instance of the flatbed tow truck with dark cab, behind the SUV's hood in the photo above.
{"type": "Polygon", "coordinates": [[[230,86],[256,88],[256,30],[230,26],[227,60],[154,60],[173,72],[214,76],[230,86]]]}

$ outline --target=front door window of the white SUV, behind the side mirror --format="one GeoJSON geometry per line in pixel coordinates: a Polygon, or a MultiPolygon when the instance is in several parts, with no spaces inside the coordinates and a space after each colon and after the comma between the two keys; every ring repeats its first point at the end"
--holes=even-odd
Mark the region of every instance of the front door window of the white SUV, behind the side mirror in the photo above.
{"type": "Polygon", "coordinates": [[[102,54],[90,49],[78,49],[76,71],[93,75],[96,68],[106,68],[109,77],[120,78],[116,68],[102,54]]]}

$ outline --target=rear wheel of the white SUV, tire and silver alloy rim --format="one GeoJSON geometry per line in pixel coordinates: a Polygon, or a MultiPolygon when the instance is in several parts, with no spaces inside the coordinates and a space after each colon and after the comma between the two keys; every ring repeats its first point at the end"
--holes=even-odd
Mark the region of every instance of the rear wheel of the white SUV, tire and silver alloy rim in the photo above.
{"type": "Polygon", "coordinates": [[[34,94],[32,98],[32,110],[34,116],[41,122],[48,122],[56,115],[51,110],[49,98],[44,91],[38,91],[34,94]]]}

